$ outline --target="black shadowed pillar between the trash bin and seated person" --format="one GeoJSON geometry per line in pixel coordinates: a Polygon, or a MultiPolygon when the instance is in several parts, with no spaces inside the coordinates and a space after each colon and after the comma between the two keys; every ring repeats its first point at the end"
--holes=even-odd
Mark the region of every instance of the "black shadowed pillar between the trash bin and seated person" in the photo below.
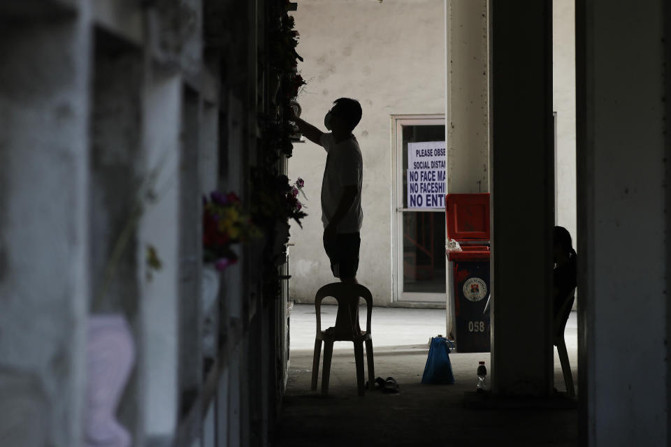
{"type": "Polygon", "coordinates": [[[493,391],[542,397],[553,383],[552,3],[490,12],[493,391]]]}

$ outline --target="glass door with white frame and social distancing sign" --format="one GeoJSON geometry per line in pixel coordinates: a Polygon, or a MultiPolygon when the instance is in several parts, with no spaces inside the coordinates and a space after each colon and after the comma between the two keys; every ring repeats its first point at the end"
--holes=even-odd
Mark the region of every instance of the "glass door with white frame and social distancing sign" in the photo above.
{"type": "Polygon", "coordinates": [[[445,117],[394,117],[397,301],[445,302],[445,117]]]}

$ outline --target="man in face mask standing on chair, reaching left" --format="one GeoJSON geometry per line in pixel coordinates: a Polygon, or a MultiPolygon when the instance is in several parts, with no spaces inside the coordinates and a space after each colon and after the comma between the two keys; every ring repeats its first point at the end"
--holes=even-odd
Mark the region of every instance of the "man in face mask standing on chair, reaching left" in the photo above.
{"type": "MultiPolygon", "coordinates": [[[[352,131],[361,121],[361,105],[350,98],[333,102],[333,108],[324,117],[324,133],[315,126],[295,117],[298,129],[305,138],[324,147],[326,167],[322,180],[322,222],[324,249],[331,261],[333,276],[345,284],[358,284],[359,247],[361,246],[361,181],[363,159],[359,142],[352,131]]],[[[356,316],[354,330],[359,330],[359,303],[352,303],[349,316],[356,316]]],[[[338,314],[340,314],[340,309],[338,314]]],[[[338,318],[336,318],[336,321],[338,318]]]]}

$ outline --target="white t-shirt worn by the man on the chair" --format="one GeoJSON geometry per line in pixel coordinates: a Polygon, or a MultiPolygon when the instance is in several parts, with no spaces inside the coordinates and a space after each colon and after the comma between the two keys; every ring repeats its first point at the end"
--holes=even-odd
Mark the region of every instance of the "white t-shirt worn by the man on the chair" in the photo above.
{"type": "Polygon", "coordinates": [[[333,133],[322,134],[319,141],[326,149],[326,168],[322,180],[322,223],[324,228],[338,209],[342,189],[356,185],[356,197],[352,207],[338,224],[338,233],[356,233],[361,230],[363,211],[361,210],[361,181],[363,179],[363,159],[359,142],[352,136],[336,143],[333,133]]]}

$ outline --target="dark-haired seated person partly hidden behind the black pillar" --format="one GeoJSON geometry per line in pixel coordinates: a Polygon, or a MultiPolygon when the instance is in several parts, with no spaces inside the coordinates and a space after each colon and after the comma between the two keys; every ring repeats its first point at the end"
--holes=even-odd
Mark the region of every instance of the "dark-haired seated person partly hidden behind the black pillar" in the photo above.
{"type": "MultiPolygon", "coordinates": [[[[571,235],[563,226],[554,227],[554,270],[552,276],[554,280],[553,317],[556,320],[560,316],[561,306],[577,284],[577,254],[573,249],[571,235]]],[[[568,316],[571,307],[569,306],[565,310],[562,317],[568,316]]]]}

